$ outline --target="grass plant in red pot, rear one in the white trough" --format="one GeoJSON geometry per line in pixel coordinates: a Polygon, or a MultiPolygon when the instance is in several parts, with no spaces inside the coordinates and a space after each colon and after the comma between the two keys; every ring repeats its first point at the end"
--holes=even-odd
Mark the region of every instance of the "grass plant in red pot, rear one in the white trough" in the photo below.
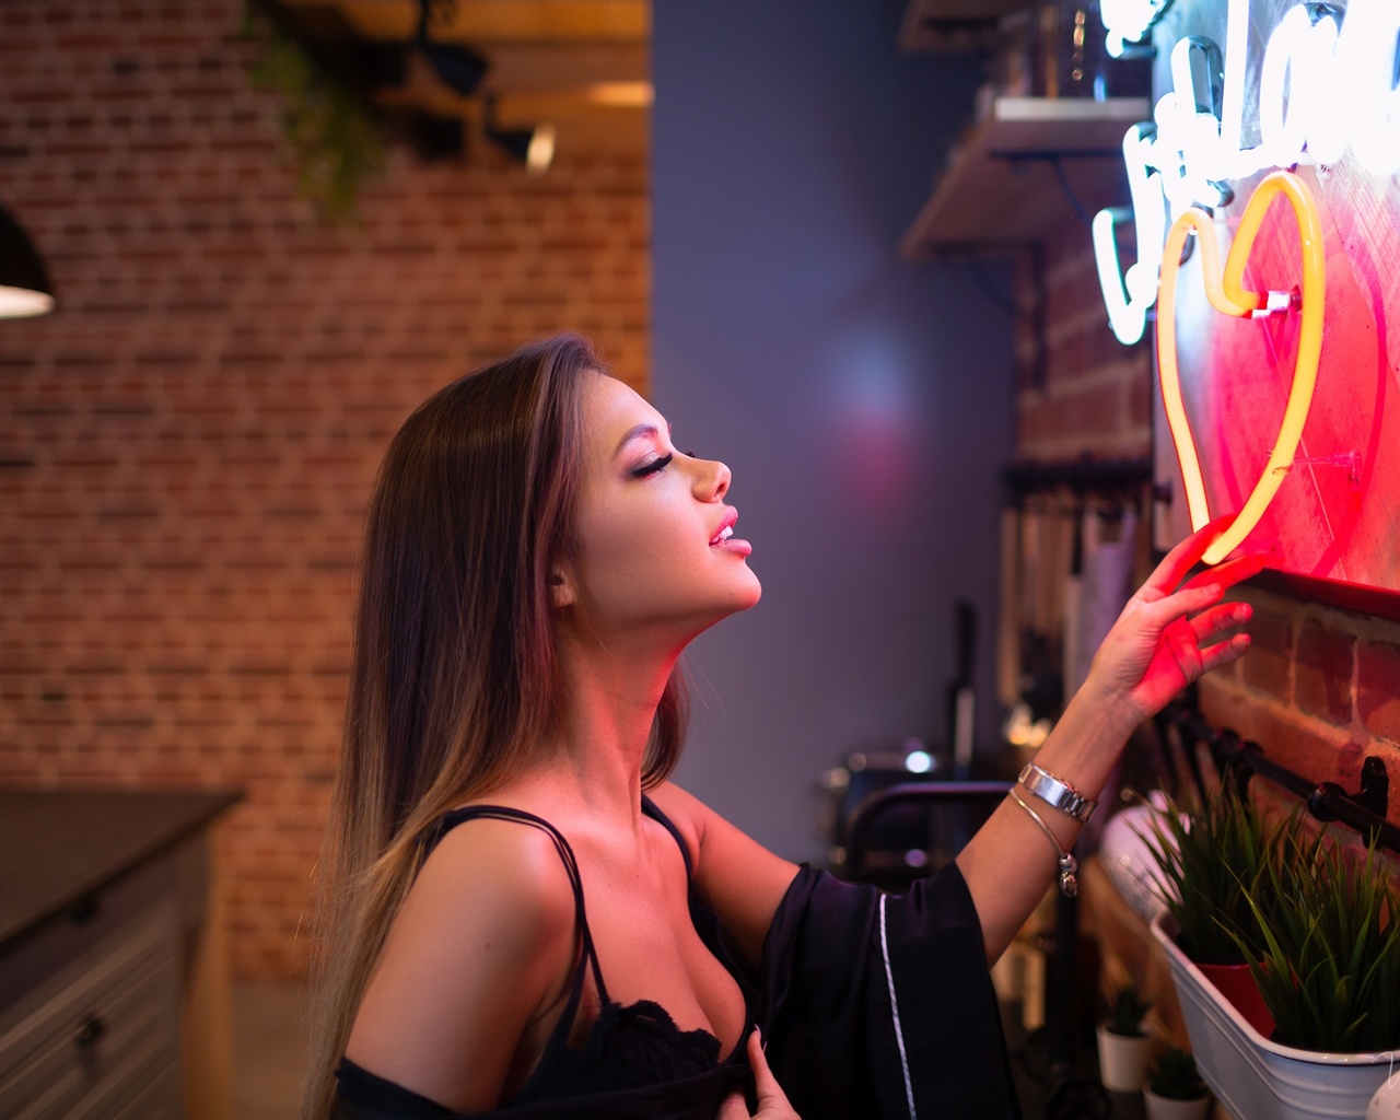
{"type": "Polygon", "coordinates": [[[1291,825],[1268,825],[1233,783],[1189,812],[1168,798],[1149,820],[1140,836],[1161,872],[1158,900],[1175,920],[1182,952],[1267,1037],[1273,1021],[1242,948],[1260,938],[1247,892],[1291,825]]]}

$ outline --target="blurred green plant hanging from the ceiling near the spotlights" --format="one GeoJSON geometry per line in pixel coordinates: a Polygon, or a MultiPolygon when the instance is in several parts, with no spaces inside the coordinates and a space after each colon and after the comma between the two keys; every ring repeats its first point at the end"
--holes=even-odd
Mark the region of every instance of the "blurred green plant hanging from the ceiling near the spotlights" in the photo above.
{"type": "Polygon", "coordinates": [[[253,87],[281,95],[281,132],[297,165],[297,190],[322,221],[353,223],[364,181],[385,165],[370,106],[251,7],[244,34],[262,45],[249,70],[253,87]]]}

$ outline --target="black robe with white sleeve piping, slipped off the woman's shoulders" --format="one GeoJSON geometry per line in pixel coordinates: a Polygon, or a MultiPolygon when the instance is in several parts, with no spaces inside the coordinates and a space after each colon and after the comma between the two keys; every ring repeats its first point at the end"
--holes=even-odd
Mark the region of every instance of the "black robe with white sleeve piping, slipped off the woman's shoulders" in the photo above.
{"type": "MultiPolygon", "coordinates": [[[[693,890],[690,913],[743,988],[769,1065],[802,1120],[1021,1116],[981,924],[956,864],[906,895],[804,865],[774,914],[757,976],[735,963],[693,890]]],[[[741,1043],[715,1070],[683,1081],[469,1116],[421,1098],[424,1107],[406,1107],[403,1091],[384,1085],[396,1092],[378,1102],[342,1098],[337,1120],[713,1120],[736,1086],[752,1105],[753,1078],[741,1043]]]]}

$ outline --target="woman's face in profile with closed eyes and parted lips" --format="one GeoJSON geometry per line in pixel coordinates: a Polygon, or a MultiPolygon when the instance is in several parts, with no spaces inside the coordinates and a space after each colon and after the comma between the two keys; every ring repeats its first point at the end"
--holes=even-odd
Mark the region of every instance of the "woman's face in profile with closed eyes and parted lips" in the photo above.
{"type": "Polygon", "coordinates": [[[566,581],[599,636],[652,633],[689,641],[759,601],[724,504],[729,469],[686,455],[651,405],[594,375],[584,391],[577,553],[566,581]]]}

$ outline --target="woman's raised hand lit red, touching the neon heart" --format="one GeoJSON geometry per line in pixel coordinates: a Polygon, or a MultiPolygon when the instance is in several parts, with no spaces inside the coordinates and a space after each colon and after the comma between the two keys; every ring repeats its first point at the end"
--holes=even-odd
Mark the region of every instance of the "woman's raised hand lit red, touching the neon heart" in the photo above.
{"type": "Polygon", "coordinates": [[[1155,715],[1187,685],[1249,650],[1249,636],[1210,638],[1249,620],[1249,603],[1222,603],[1225,589],[1264,566],[1257,556],[1228,560],[1177,584],[1231,518],[1217,518],[1172,549],[1128,599],[1093,657],[1086,689],[1128,727],[1155,715]]]}

